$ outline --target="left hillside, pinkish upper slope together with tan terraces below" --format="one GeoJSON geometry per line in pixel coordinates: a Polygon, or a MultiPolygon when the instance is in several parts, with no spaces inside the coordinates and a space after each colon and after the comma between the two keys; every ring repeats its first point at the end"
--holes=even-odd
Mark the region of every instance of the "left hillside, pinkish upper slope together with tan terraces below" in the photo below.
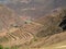
{"type": "Polygon", "coordinates": [[[10,47],[22,45],[34,38],[34,35],[42,29],[42,24],[33,21],[26,23],[12,10],[0,5],[0,45],[10,47]]]}

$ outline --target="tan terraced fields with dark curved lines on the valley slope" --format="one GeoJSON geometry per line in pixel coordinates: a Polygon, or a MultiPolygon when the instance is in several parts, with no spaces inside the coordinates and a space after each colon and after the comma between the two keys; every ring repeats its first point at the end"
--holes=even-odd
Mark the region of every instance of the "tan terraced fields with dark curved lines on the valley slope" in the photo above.
{"type": "Polygon", "coordinates": [[[0,45],[14,46],[22,45],[34,38],[34,35],[43,29],[43,25],[32,22],[22,27],[11,27],[0,34],[0,45]],[[2,36],[1,36],[2,35],[2,36]]]}

